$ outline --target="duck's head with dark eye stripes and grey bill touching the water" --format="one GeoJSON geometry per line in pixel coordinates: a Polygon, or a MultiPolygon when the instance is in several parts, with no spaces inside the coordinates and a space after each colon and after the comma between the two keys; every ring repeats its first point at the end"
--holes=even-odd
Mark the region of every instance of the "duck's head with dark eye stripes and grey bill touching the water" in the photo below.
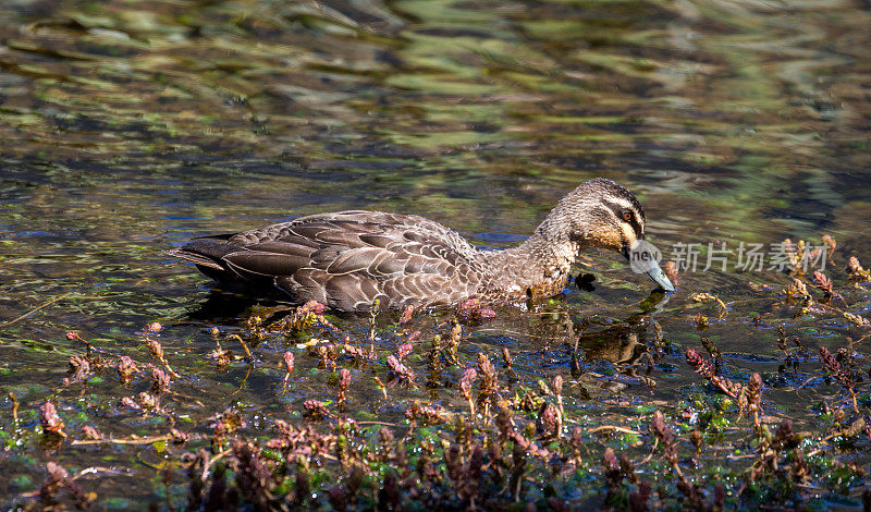
{"type": "Polygon", "coordinates": [[[539,227],[545,237],[565,239],[584,247],[610,248],[633,263],[667,292],[674,285],[652,257],[645,240],[645,209],[625,186],[597,178],[563,197],[539,227]]]}

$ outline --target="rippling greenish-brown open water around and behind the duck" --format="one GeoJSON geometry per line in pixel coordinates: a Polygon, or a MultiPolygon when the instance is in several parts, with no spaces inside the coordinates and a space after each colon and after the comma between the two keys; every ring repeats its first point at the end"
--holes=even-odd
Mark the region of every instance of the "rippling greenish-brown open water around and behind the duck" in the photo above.
{"type": "MultiPolygon", "coordinates": [[[[846,1],[8,3],[0,387],[21,401],[30,429],[36,406],[53,398],[73,431],[165,430],[164,418],[115,407],[148,382],[62,385],[68,358],[82,350],[64,332],[146,358],[136,332],[160,321],[184,369],[180,392],[210,404],[177,399],[179,417],[199,428],[236,402],[252,417],[298,412],[327,377],[299,374],[287,393],[269,365],[247,379],[245,365],[216,370],[204,361],[213,348],[208,328],[236,330],[246,304],[210,293],[193,267],[162,251],[352,208],[424,215],[501,247],[593,176],[639,196],[648,239],[666,259],[675,243],[819,245],[827,233],[838,241],[827,272],[843,282],[848,256],[871,259],[869,48],[869,5],[846,1]]],[[[464,351],[474,361],[479,350],[510,346],[532,382],[567,374],[565,326],[541,315],[567,308],[576,324],[592,321],[575,389],[578,407],[597,410],[581,388],[640,403],[673,401],[692,386],[683,350],[698,346],[700,333],[689,319],[716,317],[694,293],[729,306],[704,336],[736,375],[776,371],[772,327],[781,324],[814,351],[862,336],[843,319],[794,318],[778,296],[785,276],[735,271],[729,258],[725,272],[682,272],[675,296],[653,306],[657,296],[641,304],[646,278],[591,253],[578,269],[597,276],[594,291],[573,285],[555,304],[500,310],[467,328],[464,351]],[[653,319],[676,346],[653,369],[659,387],[609,377],[628,353],[645,352],[634,343],[649,343],[653,319]]],[[[871,309],[866,290],[848,298],[852,313],[871,309]]],[[[339,321],[360,336],[368,329],[365,317],[339,321]]],[[[425,318],[419,329],[429,334],[438,321],[425,318]]],[[[283,350],[258,348],[270,364],[283,350]]],[[[813,415],[810,402],[826,391],[810,389],[772,391],[774,410],[813,415]]],[[[407,404],[379,393],[361,386],[353,406],[398,420],[407,404]]],[[[2,402],[0,420],[10,422],[11,409],[2,402]]],[[[2,456],[16,475],[0,483],[4,499],[37,489],[47,460],[130,468],[133,476],[97,486],[106,507],[163,499],[152,448],[27,447],[2,456]],[[111,487],[122,481],[123,497],[111,487]]]]}

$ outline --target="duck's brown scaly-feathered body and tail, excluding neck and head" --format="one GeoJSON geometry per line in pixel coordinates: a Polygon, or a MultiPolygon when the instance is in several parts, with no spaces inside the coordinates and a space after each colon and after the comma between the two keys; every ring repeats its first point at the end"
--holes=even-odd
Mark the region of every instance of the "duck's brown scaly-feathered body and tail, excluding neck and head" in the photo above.
{"type": "Polygon", "coordinates": [[[418,216],[340,211],[196,240],[170,252],[207,276],[343,310],[441,307],[477,296],[480,252],[418,216]]]}

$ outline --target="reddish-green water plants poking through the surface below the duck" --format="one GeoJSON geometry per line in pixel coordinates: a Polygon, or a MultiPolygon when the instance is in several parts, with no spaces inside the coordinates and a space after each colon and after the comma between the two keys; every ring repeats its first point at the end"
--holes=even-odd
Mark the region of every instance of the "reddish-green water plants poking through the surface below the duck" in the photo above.
{"type": "Polygon", "coordinates": [[[71,331],[66,339],[78,348],[70,377],[33,410],[23,411],[10,393],[15,405],[0,423],[7,452],[38,443],[48,455],[38,490],[14,502],[87,508],[99,500],[89,476],[122,472],[66,470],[56,459],[69,466],[77,453],[114,446],[157,455],[151,465],[171,509],[641,511],[838,502],[867,510],[871,330],[847,309],[867,307],[869,276],[856,257],[835,279],[797,270],[758,298],[781,316],[736,315],[736,303],[712,295],[686,297],[670,312],[677,326],[699,325],[695,312],[714,303],[724,310],[699,329],[733,322],[743,336],[770,343],[780,355],[768,366],[776,369],[752,374],[707,332],[679,348],[651,308],[640,329],[634,319],[600,331],[635,322],[635,332],[616,334],[635,337],[628,357],[597,353],[601,348],[586,343],[596,318],[554,301],[502,313],[557,334],[540,355],[565,354],[571,364],[550,377],[518,367],[530,354],[476,342],[476,330],[504,327],[475,301],[447,313],[409,308],[368,320],[330,316],[317,303],[258,307],[238,329],[208,328],[216,348],[200,353],[208,363],[197,369],[172,361],[161,341],[172,328],[158,322],[135,334],[142,348],[135,358],[71,331]],[[817,340],[785,312],[805,325],[846,318],[841,329],[848,342],[812,348],[817,340]],[[698,377],[670,383],[678,364],[698,377]],[[244,376],[228,397],[266,379],[283,406],[252,407],[240,397],[216,410],[189,394],[204,374],[232,368],[244,368],[244,376]],[[116,382],[113,404],[76,405],[109,380],[116,382]],[[621,387],[591,397],[593,385],[609,382],[621,387]],[[658,398],[660,388],[679,394],[658,398]],[[633,389],[647,389],[651,399],[633,389]],[[368,413],[367,401],[381,402],[383,413],[368,413]],[[801,402],[811,405],[795,406],[801,402]],[[88,424],[91,415],[122,417],[145,431],[101,432],[88,424]]]}

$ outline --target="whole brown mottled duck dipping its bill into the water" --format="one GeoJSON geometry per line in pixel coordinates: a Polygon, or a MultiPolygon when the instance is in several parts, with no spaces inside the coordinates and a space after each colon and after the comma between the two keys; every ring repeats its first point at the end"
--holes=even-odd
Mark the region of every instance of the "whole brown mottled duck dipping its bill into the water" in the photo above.
{"type": "MultiPolygon", "coordinates": [[[[597,178],[563,197],[517,246],[488,251],[416,215],[347,210],[194,239],[168,251],[220,284],[291,304],[316,301],[343,312],[438,309],[561,293],[580,253],[613,249],[627,260],[645,240],[641,204],[597,178]]],[[[645,267],[662,290],[674,285],[655,259],[645,267]]]]}

